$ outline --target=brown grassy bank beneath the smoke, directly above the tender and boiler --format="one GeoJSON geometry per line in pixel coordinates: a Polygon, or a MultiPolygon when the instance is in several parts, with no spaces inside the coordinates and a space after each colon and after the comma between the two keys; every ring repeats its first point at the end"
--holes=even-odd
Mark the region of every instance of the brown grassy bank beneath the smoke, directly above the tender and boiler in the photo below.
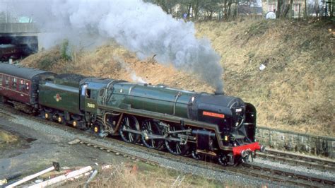
{"type": "Polygon", "coordinates": [[[213,88],[199,81],[196,76],[177,71],[172,66],[158,64],[152,58],[141,61],[134,53],[128,52],[114,42],[91,52],[75,52],[71,54],[71,61],[61,59],[59,51],[59,47],[54,47],[48,52],[33,54],[21,63],[41,69],[41,64],[47,62],[49,66],[44,65],[42,69],[56,73],[74,73],[132,82],[138,82],[134,79],[138,76],[152,84],[163,83],[174,88],[213,92],[213,88]]]}

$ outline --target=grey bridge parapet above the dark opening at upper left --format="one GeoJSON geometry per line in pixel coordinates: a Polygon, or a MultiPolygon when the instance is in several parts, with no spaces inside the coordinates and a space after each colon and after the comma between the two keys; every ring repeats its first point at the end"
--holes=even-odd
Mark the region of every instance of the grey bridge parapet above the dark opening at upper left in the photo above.
{"type": "Polygon", "coordinates": [[[35,23],[0,23],[0,33],[40,33],[35,23]]]}

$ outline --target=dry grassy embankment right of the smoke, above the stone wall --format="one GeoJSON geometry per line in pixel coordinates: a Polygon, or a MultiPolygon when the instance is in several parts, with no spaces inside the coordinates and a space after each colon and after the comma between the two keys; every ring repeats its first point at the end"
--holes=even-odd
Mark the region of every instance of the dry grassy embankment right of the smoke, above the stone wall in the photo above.
{"type": "Polygon", "coordinates": [[[261,20],[197,28],[221,54],[225,91],[252,102],[259,124],[334,136],[334,25],[261,20]]]}

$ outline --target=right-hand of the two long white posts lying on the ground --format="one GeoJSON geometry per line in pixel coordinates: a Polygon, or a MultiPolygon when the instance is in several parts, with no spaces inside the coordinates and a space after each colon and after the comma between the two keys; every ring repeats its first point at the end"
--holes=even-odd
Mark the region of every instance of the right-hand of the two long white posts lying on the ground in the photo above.
{"type": "Polygon", "coordinates": [[[69,172],[68,174],[65,174],[65,175],[60,175],[60,176],[57,176],[57,177],[54,177],[50,180],[47,180],[47,181],[44,181],[44,182],[40,182],[38,184],[33,184],[32,186],[28,187],[28,188],[32,188],[32,187],[47,187],[47,186],[50,186],[52,184],[55,184],[55,183],[58,183],[58,182],[62,182],[64,180],[68,180],[72,177],[76,177],[78,175],[82,175],[83,173],[86,173],[88,171],[92,170],[92,167],[90,166],[87,166],[87,167],[84,167],[84,168],[81,168],[79,170],[76,170],[76,171],[72,171],[72,172],[69,172]]]}

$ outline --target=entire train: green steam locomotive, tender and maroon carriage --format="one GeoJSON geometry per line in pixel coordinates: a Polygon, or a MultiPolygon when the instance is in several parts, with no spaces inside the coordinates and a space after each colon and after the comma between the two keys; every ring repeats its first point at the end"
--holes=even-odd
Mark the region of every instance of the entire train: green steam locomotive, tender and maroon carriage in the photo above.
{"type": "Polygon", "coordinates": [[[0,97],[45,119],[174,155],[211,155],[221,165],[264,151],[254,138],[255,107],[223,94],[0,64],[0,97]]]}

